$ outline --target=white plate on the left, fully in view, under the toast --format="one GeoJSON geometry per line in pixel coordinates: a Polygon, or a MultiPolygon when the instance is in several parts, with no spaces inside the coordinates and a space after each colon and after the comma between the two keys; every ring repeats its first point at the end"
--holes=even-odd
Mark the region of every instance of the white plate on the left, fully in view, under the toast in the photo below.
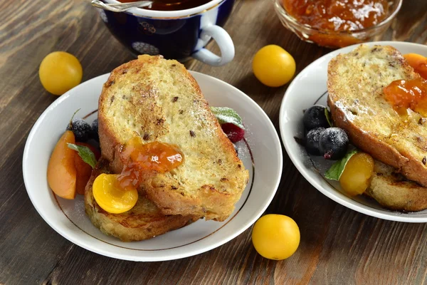
{"type": "MultiPolygon", "coordinates": [[[[133,261],[162,261],[190,257],[224,244],[255,222],[273,199],[282,173],[282,150],[278,134],[264,111],[237,88],[211,76],[191,72],[205,98],[213,106],[227,106],[241,115],[246,142],[238,142],[239,156],[250,172],[248,187],[236,210],[225,222],[199,220],[154,239],[120,242],[102,234],[85,215],[83,197],[61,199],[48,187],[48,160],[71,115],[75,118],[97,109],[102,84],[98,76],[60,96],[38,118],[23,152],[23,179],[28,196],[43,219],[66,239],[92,252],[133,261]],[[251,153],[253,160],[251,160],[251,153]]],[[[95,120],[96,113],[88,117],[95,120]]]]}

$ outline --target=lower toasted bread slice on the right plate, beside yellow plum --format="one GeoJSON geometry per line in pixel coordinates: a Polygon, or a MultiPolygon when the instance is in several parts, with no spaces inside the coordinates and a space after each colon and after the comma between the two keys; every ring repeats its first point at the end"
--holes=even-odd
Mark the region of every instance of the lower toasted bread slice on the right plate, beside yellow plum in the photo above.
{"type": "Polygon", "coordinates": [[[416,212],[427,209],[427,188],[405,177],[389,165],[375,162],[374,175],[366,195],[386,208],[416,212]]]}

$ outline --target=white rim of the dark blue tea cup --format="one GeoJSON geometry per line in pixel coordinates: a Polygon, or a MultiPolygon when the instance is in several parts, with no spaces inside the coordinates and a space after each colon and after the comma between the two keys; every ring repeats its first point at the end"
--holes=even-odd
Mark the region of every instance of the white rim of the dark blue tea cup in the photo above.
{"type": "MultiPolygon", "coordinates": [[[[120,4],[122,2],[117,0],[104,0],[110,4],[120,4]]],[[[219,6],[227,0],[211,0],[206,4],[201,6],[196,6],[191,9],[176,10],[176,11],[159,11],[159,10],[147,10],[142,8],[132,8],[125,12],[126,14],[132,14],[133,16],[145,17],[145,18],[155,18],[155,19],[177,19],[177,18],[189,18],[191,16],[196,16],[198,14],[203,14],[206,11],[214,9],[216,6],[219,6]]]]}

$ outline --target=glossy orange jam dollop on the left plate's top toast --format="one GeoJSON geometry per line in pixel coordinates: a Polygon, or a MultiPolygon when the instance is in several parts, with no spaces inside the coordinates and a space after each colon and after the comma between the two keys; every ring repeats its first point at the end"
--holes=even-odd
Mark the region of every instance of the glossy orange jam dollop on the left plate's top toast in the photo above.
{"type": "Polygon", "coordinates": [[[121,155],[128,161],[118,177],[125,190],[137,188],[147,172],[169,172],[184,162],[184,154],[176,145],[157,141],[143,144],[139,137],[129,140],[121,155]]]}

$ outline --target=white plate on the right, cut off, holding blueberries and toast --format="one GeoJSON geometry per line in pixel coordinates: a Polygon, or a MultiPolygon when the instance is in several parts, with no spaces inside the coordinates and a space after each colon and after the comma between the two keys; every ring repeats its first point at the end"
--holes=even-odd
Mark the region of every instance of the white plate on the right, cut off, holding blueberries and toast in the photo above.
{"type": "MultiPolygon", "coordinates": [[[[404,43],[394,41],[380,41],[367,43],[370,46],[375,44],[389,45],[397,48],[401,53],[419,53],[427,56],[427,46],[416,43],[404,43]]],[[[394,212],[384,207],[381,207],[374,200],[359,197],[349,197],[339,187],[339,183],[334,183],[331,180],[326,180],[321,173],[329,167],[325,160],[310,159],[304,147],[295,142],[294,137],[302,138],[304,135],[304,127],[302,125],[302,110],[309,108],[315,103],[327,105],[327,64],[339,53],[348,53],[355,46],[341,48],[337,51],[332,51],[322,58],[311,63],[307,68],[301,71],[300,74],[292,81],[288,90],[286,90],[280,107],[280,134],[282,135],[283,145],[290,156],[290,159],[305,177],[317,190],[330,197],[335,202],[342,204],[345,207],[354,209],[357,212],[369,214],[373,217],[381,219],[389,219],[399,222],[427,222],[427,210],[421,212],[394,212]]]]}

